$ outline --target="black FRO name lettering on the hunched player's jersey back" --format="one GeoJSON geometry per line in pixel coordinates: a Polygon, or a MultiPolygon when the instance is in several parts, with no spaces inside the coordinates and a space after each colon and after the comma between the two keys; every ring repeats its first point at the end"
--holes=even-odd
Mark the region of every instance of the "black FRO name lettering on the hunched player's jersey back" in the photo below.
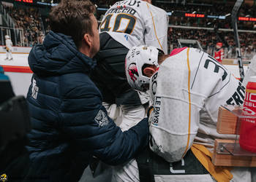
{"type": "Polygon", "coordinates": [[[229,98],[226,103],[228,105],[241,105],[244,103],[245,87],[239,82],[236,92],[233,93],[232,97],[229,98]]]}

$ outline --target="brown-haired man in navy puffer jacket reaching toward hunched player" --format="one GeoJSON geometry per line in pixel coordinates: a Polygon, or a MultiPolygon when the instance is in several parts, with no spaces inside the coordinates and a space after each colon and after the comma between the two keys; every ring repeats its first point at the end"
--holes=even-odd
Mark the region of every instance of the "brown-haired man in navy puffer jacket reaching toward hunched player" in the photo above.
{"type": "Polygon", "coordinates": [[[92,156],[120,165],[148,144],[148,119],[122,132],[89,79],[99,51],[94,11],[90,1],[61,1],[50,12],[52,31],[29,54],[34,74],[25,181],[78,181],[92,156]]]}

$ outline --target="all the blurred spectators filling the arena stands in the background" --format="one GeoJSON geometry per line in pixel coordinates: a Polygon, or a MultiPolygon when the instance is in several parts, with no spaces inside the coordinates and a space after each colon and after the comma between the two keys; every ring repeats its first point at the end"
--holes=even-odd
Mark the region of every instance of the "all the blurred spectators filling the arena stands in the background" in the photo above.
{"type": "MultiPolygon", "coordinates": [[[[92,0],[93,1],[93,0],[92,0]]],[[[207,6],[200,5],[198,1],[175,1],[172,0],[169,3],[157,3],[155,5],[165,9],[167,12],[178,13],[196,13],[204,15],[227,15],[233,9],[235,1],[227,1],[227,3],[211,2],[207,6]],[[195,6],[197,3],[197,6],[195,6]]],[[[110,4],[113,4],[113,0],[108,1],[95,1],[97,7],[107,9],[110,4]]],[[[35,7],[4,7],[9,12],[10,16],[15,22],[15,28],[23,29],[23,42],[25,47],[32,47],[34,44],[42,43],[43,38],[49,29],[48,17],[41,17],[38,9],[35,7]]],[[[102,20],[104,10],[99,10],[97,13],[97,19],[102,20]]],[[[249,6],[244,4],[239,12],[239,16],[245,17],[250,15],[256,17],[255,5],[249,6]]],[[[225,50],[225,58],[236,58],[235,42],[233,32],[230,31],[218,31],[218,28],[232,28],[230,23],[230,15],[226,20],[213,19],[213,18],[195,18],[195,17],[179,17],[169,16],[169,25],[180,26],[193,26],[193,27],[205,27],[214,28],[215,31],[209,31],[204,29],[192,29],[192,28],[169,28],[168,30],[168,45],[169,51],[178,47],[177,39],[196,39],[200,42],[203,50],[213,55],[216,50],[216,43],[221,41],[223,43],[223,49],[225,50]]],[[[238,29],[254,30],[254,22],[239,21],[238,29]]],[[[256,52],[256,33],[239,33],[241,41],[241,53],[242,57],[249,59],[256,52]]],[[[21,42],[18,41],[16,46],[20,46],[21,42]]]]}

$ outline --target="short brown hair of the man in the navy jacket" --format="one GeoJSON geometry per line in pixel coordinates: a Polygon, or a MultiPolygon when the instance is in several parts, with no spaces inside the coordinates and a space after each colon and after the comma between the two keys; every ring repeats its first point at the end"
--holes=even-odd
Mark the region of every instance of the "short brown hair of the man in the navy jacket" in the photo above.
{"type": "Polygon", "coordinates": [[[93,36],[91,15],[95,9],[89,0],[62,0],[50,11],[50,29],[55,33],[72,36],[79,49],[85,33],[93,36]]]}

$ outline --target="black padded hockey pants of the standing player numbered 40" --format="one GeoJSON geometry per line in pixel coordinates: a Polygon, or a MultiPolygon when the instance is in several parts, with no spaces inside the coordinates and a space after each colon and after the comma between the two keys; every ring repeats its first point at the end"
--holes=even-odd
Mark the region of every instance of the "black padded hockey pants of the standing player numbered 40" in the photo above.
{"type": "Polygon", "coordinates": [[[124,63],[127,47],[113,39],[108,33],[100,33],[100,50],[95,56],[97,66],[91,79],[102,92],[103,101],[117,105],[140,105],[138,93],[127,82],[124,63]]]}

